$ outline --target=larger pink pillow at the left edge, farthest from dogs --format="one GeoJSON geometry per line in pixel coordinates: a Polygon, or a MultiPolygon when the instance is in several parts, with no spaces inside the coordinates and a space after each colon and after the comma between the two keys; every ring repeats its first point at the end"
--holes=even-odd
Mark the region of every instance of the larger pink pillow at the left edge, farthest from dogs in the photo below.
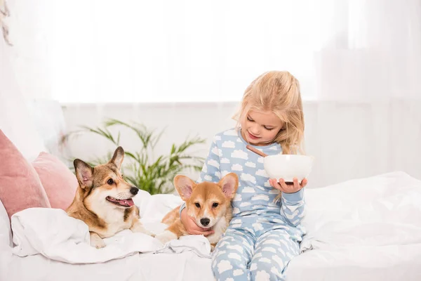
{"type": "Polygon", "coordinates": [[[1,130],[0,200],[9,218],[23,209],[51,207],[34,167],[1,130]]]}

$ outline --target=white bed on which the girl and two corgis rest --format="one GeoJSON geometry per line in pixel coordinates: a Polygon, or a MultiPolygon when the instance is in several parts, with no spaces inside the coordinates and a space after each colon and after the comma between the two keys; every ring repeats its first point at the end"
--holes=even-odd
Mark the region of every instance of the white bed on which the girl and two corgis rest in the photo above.
{"type": "MultiPolygon", "coordinates": [[[[143,223],[155,233],[165,227],[162,216],[181,202],[147,192],[135,198],[143,223]]],[[[394,172],[307,189],[305,199],[307,234],[287,280],[421,280],[421,181],[394,172]]],[[[0,280],[213,280],[206,249],[203,255],[167,249],[80,264],[17,256],[12,239],[0,204],[0,280]]]]}

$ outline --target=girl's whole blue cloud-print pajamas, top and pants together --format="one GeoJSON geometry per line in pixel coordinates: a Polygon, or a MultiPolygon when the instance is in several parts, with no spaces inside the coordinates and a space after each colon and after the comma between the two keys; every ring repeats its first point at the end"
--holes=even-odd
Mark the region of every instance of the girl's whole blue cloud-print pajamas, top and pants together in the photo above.
{"type": "MultiPolygon", "coordinates": [[[[213,252],[213,273],[222,281],[283,280],[305,233],[300,226],[304,190],[282,193],[281,200],[276,201],[279,190],[269,183],[263,157],[250,152],[246,145],[240,131],[218,133],[198,179],[216,183],[230,172],[239,176],[232,221],[213,252]]],[[[282,152],[278,143],[255,148],[267,155],[282,152]]]]}

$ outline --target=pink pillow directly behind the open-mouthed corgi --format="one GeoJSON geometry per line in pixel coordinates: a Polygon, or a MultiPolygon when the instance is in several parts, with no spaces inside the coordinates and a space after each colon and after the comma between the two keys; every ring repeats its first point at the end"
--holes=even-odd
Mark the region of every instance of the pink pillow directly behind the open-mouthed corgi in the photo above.
{"type": "Polygon", "coordinates": [[[76,176],[54,155],[41,152],[32,162],[52,208],[67,209],[78,186],[76,176]]]}

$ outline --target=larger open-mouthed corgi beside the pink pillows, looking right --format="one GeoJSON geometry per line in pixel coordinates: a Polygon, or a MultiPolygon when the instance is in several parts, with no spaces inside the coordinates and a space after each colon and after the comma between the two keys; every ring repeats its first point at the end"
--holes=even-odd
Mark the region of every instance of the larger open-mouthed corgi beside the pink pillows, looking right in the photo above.
{"type": "Polygon", "coordinates": [[[91,246],[97,249],[105,247],[102,238],[125,229],[154,236],[139,221],[139,209],[132,200],[138,188],[121,176],[123,158],[124,150],[119,147],[107,164],[92,168],[81,159],[73,162],[79,186],[66,211],[88,225],[91,246]]]}

